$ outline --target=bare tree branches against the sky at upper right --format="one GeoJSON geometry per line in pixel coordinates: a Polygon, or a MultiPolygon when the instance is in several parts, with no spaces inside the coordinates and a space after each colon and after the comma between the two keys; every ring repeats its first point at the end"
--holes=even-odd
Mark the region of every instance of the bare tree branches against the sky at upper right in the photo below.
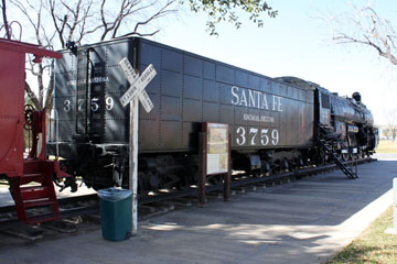
{"type": "Polygon", "coordinates": [[[397,65],[395,26],[387,19],[380,18],[372,7],[353,6],[352,12],[332,15],[326,20],[335,43],[367,46],[397,65]]]}

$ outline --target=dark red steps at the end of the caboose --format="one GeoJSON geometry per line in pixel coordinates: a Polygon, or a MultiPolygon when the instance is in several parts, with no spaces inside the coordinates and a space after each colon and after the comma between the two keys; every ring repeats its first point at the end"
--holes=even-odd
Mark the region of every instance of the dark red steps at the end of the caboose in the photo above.
{"type": "Polygon", "coordinates": [[[52,174],[52,163],[28,160],[23,176],[11,182],[10,190],[22,221],[35,224],[60,219],[52,174]]]}

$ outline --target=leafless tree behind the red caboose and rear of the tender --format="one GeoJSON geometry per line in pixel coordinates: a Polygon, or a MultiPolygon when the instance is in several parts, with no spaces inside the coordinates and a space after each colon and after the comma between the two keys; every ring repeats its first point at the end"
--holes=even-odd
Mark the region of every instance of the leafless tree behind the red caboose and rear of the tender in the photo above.
{"type": "MultiPolygon", "coordinates": [[[[158,30],[150,23],[176,12],[179,0],[10,0],[10,3],[23,15],[30,40],[44,48],[56,50],[66,48],[68,41],[84,44],[120,36],[154,35],[158,30]]],[[[6,8],[2,10],[6,12],[6,8]]],[[[52,107],[52,69],[51,59],[43,59],[41,64],[35,64],[33,57],[28,59],[26,70],[36,78],[37,92],[28,84],[25,91],[36,109],[52,107]]]]}

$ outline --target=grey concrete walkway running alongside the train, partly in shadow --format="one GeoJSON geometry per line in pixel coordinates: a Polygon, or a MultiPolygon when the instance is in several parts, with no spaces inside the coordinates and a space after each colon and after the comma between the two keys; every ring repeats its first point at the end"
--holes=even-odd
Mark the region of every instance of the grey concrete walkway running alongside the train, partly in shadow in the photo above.
{"type": "MultiPolygon", "coordinates": [[[[323,263],[391,205],[396,156],[187,208],[109,242],[100,230],[0,249],[0,263],[323,263]]],[[[382,158],[382,156],[379,156],[382,158]]]]}

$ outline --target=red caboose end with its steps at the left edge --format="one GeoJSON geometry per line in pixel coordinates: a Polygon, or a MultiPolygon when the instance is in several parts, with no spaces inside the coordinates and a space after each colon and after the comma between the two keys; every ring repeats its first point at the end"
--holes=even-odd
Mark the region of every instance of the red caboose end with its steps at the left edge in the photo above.
{"type": "Polygon", "coordinates": [[[35,56],[35,63],[42,57],[62,57],[37,45],[0,38],[0,178],[10,184],[18,217],[26,223],[39,223],[60,218],[52,178],[62,172],[57,161],[45,157],[45,113],[24,109],[26,53],[35,56]],[[32,150],[24,158],[26,122],[32,129],[32,150]]]}

